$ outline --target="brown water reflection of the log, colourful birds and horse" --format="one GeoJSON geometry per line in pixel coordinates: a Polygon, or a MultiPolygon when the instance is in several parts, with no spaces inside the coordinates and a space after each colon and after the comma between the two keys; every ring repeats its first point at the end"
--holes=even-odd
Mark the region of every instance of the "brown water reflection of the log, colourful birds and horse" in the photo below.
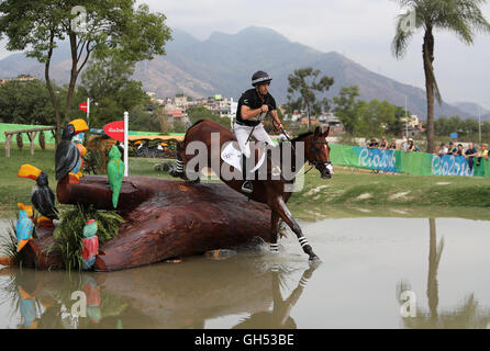
{"type": "Polygon", "coordinates": [[[296,328],[290,313],[314,269],[270,254],[191,258],[113,273],[8,269],[0,271],[0,297],[13,328],[201,329],[213,318],[243,314],[249,317],[236,328],[296,328]],[[291,280],[298,286],[282,299],[291,280]]]}

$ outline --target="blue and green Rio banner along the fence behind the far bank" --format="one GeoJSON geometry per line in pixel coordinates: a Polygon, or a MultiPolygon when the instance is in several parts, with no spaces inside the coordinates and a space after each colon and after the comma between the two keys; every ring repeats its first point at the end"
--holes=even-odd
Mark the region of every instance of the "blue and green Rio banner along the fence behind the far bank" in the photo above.
{"type": "Polygon", "coordinates": [[[490,162],[474,158],[472,168],[464,156],[437,156],[425,152],[405,152],[367,147],[331,145],[334,165],[376,169],[416,176],[475,176],[490,177],[490,162]]]}

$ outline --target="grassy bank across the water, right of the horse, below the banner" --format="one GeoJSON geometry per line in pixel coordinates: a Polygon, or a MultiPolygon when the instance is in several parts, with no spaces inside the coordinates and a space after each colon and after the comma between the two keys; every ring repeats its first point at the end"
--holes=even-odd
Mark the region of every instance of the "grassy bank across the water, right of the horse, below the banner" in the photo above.
{"type": "Polygon", "coordinates": [[[490,179],[446,176],[375,174],[336,166],[323,180],[315,170],[291,203],[369,206],[490,207],[490,179]],[[315,193],[315,189],[324,186],[315,193]]]}

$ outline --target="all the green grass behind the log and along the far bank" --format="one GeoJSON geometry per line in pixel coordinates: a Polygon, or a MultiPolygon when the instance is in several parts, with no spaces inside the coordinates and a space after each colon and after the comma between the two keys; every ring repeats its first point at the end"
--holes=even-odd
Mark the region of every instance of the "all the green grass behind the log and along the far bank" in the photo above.
{"type": "MultiPolygon", "coordinates": [[[[36,148],[34,156],[29,149],[11,150],[5,158],[4,145],[0,144],[0,217],[11,216],[16,203],[30,203],[33,181],[16,177],[23,163],[32,163],[46,171],[49,185],[56,189],[54,178],[55,150],[36,148]]],[[[131,176],[162,177],[154,166],[158,159],[130,159],[131,176]]],[[[470,218],[490,217],[490,179],[448,176],[407,176],[374,174],[369,170],[352,170],[335,167],[335,176],[330,180],[321,179],[316,170],[305,176],[304,186],[294,193],[289,202],[293,214],[310,218],[314,216],[355,216],[383,214],[393,215],[397,211],[419,216],[431,214],[470,218]],[[415,208],[421,208],[416,210],[415,208]],[[390,214],[391,213],[391,214],[390,214]]]]}

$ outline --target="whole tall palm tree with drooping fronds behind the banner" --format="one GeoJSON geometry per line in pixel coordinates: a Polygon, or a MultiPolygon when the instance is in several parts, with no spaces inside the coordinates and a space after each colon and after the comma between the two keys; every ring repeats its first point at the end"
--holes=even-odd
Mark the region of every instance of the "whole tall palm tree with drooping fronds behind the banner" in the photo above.
{"type": "Polygon", "coordinates": [[[465,44],[474,43],[475,33],[490,33],[490,23],[480,11],[487,0],[393,0],[408,12],[397,18],[392,53],[401,58],[407,53],[409,41],[415,30],[424,30],[422,57],[425,73],[425,92],[427,97],[427,152],[434,150],[434,95],[442,104],[442,97],[434,75],[434,31],[453,32],[465,44]],[[408,21],[412,20],[408,26],[408,21]]]}

